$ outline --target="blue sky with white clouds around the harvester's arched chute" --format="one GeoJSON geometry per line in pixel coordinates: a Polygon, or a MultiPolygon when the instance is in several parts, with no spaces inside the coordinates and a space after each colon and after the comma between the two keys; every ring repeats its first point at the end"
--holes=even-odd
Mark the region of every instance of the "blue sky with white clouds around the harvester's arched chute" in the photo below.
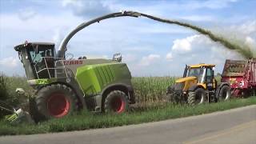
{"type": "MultiPolygon", "coordinates": [[[[256,49],[256,1],[82,1],[0,0],[0,71],[24,75],[14,46],[25,42],[54,42],[82,22],[120,10],[136,10],[189,22],[239,40],[256,49]]],[[[214,63],[222,71],[226,58],[241,59],[234,51],[193,30],[146,18],[112,18],[78,32],[68,52],[74,58],[112,58],[122,53],[134,76],[178,76],[185,64],[214,63]]]]}

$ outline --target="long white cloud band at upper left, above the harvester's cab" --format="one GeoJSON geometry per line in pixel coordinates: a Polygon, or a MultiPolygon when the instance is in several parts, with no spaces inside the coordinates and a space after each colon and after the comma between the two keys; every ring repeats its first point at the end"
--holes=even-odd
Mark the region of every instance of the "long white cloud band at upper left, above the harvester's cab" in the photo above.
{"type": "MultiPolygon", "coordinates": [[[[23,30],[23,31],[53,31],[56,28],[78,26],[82,22],[81,18],[76,18],[72,14],[63,13],[61,15],[42,15],[37,14],[36,17],[30,18],[27,21],[22,21],[17,14],[0,14],[2,21],[0,29],[2,30],[23,30]],[[68,19],[68,20],[67,20],[68,19]]],[[[64,29],[63,28],[63,29],[64,29]]],[[[35,33],[35,32],[34,32],[35,33]]],[[[45,34],[45,33],[42,33],[45,34]]],[[[41,34],[41,35],[42,35],[41,34]]],[[[39,35],[39,34],[37,34],[39,35]]],[[[49,37],[49,34],[47,34],[49,37]]]]}

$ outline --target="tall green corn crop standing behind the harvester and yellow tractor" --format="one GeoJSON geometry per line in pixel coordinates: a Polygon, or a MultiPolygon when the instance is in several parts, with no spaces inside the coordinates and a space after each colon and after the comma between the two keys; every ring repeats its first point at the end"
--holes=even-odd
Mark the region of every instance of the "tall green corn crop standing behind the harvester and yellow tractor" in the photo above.
{"type": "MultiPolygon", "coordinates": [[[[3,75],[2,75],[3,78],[3,75]]],[[[175,77],[134,77],[132,78],[134,86],[134,94],[136,98],[136,104],[139,106],[156,104],[158,102],[163,102],[163,98],[166,94],[166,89],[168,86],[173,85],[175,77]]],[[[13,76],[5,77],[6,80],[6,90],[7,102],[14,105],[18,104],[18,98],[15,94],[17,87],[21,87],[26,92],[33,95],[32,88],[27,84],[26,78],[13,76]]]]}

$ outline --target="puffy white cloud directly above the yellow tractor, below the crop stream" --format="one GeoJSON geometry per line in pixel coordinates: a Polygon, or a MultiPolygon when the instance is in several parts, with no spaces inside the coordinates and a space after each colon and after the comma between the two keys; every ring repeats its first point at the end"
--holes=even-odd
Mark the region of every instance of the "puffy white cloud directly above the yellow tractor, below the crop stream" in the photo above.
{"type": "Polygon", "coordinates": [[[166,54],[167,60],[183,57],[182,60],[190,61],[192,59],[203,60],[218,58],[241,58],[234,51],[226,50],[218,42],[212,42],[210,38],[202,34],[195,34],[187,38],[174,40],[170,52],[166,54]]]}

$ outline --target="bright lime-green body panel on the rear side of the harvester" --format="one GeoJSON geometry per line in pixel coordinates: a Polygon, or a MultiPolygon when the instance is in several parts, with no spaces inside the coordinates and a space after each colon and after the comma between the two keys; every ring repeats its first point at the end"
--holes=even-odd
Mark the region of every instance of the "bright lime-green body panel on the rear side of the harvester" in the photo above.
{"type": "Polygon", "coordinates": [[[75,78],[86,95],[95,95],[106,86],[131,77],[126,64],[111,62],[78,67],[75,78]]]}

